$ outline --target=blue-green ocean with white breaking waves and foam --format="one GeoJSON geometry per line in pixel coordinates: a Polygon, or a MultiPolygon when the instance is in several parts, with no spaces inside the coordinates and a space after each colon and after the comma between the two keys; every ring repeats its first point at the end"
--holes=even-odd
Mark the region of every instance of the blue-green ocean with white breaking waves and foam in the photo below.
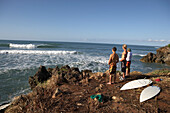
{"type": "MultiPolygon", "coordinates": [[[[122,44],[14,41],[0,40],[0,105],[14,96],[30,92],[28,78],[40,65],[46,68],[69,65],[93,72],[108,70],[108,60],[113,46],[121,57],[122,44]]],[[[131,71],[147,73],[170,68],[166,64],[142,63],[139,60],[149,52],[156,53],[157,46],[127,45],[132,49],[131,71]]],[[[120,62],[117,65],[120,71],[120,62]]]]}

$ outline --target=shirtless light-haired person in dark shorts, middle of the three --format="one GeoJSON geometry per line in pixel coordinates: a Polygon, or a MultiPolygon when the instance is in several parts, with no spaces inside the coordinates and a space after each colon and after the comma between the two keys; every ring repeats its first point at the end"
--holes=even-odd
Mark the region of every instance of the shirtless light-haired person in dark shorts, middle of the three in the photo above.
{"type": "Polygon", "coordinates": [[[122,58],[121,58],[121,71],[123,72],[123,79],[125,79],[125,74],[126,74],[126,57],[127,57],[127,45],[123,44],[123,53],[122,53],[122,58]]]}

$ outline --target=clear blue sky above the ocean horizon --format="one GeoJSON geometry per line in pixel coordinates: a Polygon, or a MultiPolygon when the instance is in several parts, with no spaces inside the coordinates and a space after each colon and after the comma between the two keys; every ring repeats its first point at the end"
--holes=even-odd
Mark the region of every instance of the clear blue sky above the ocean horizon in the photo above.
{"type": "Polygon", "coordinates": [[[0,0],[0,39],[166,45],[170,0],[0,0]]]}

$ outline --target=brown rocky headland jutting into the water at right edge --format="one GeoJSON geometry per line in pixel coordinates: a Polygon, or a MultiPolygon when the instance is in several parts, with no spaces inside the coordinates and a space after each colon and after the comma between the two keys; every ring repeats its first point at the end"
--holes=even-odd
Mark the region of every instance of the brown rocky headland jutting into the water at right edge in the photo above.
{"type": "Polygon", "coordinates": [[[148,53],[146,56],[140,59],[140,61],[170,65],[170,44],[165,47],[157,49],[156,52],[157,52],[156,54],[151,52],[148,53]]]}

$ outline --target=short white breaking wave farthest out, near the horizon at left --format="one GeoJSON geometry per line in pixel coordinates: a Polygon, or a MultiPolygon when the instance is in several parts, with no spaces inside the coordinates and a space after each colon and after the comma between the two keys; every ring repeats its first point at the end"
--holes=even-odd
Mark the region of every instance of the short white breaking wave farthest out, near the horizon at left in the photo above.
{"type": "Polygon", "coordinates": [[[36,46],[33,44],[12,44],[12,43],[9,44],[9,47],[10,48],[24,48],[24,49],[36,48],[36,46]]]}

